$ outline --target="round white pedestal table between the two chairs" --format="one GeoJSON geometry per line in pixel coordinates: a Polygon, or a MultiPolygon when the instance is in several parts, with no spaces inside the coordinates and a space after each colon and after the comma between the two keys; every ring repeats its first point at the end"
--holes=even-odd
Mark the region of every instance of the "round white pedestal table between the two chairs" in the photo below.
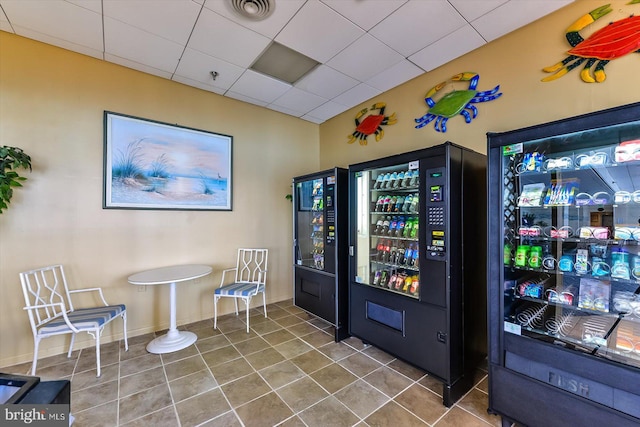
{"type": "Polygon", "coordinates": [[[188,331],[179,331],[176,328],[176,283],[204,277],[211,274],[211,270],[208,265],[174,265],[154,268],[129,276],[127,280],[132,285],[170,285],[169,308],[171,310],[171,323],[169,331],[147,345],[149,353],[171,353],[189,347],[196,342],[196,334],[188,331]]]}

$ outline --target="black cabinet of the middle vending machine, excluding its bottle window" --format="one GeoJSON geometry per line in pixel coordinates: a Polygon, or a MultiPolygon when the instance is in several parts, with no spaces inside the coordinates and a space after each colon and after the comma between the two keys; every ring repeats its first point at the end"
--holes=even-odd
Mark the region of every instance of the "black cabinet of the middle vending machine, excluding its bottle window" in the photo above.
{"type": "Polygon", "coordinates": [[[442,382],[450,407],[473,387],[475,370],[486,361],[486,156],[446,142],[350,165],[349,179],[349,332],[442,382]],[[419,293],[408,295],[357,277],[356,176],[415,161],[420,284],[419,293]],[[434,183],[441,198],[428,191],[434,183]],[[444,237],[431,234],[434,221],[444,237]]]}

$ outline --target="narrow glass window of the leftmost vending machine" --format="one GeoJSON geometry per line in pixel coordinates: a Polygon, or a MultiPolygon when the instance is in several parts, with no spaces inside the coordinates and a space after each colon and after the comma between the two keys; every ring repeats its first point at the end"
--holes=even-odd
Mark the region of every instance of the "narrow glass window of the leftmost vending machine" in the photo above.
{"type": "Polygon", "coordinates": [[[296,264],[324,270],[324,183],[312,179],[296,184],[299,227],[296,264]]]}

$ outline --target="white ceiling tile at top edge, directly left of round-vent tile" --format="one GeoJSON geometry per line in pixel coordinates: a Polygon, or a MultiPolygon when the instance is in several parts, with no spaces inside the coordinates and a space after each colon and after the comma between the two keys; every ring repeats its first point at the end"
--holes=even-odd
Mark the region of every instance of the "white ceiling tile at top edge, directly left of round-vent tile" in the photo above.
{"type": "Polygon", "coordinates": [[[104,0],[104,16],[185,45],[200,6],[191,0],[104,0]]]}

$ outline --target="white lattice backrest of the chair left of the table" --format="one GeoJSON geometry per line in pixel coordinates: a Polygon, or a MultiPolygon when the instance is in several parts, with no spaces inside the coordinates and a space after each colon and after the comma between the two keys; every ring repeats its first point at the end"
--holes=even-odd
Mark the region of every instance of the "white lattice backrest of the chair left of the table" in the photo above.
{"type": "Polygon", "coordinates": [[[23,271],[20,273],[20,283],[22,284],[25,308],[34,307],[27,310],[34,333],[36,333],[38,326],[62,316],[62,307],[66,312],[73,311],[62,265],[23,271]],[[59,303],[64,305],[51,305],[59,303]]]}

